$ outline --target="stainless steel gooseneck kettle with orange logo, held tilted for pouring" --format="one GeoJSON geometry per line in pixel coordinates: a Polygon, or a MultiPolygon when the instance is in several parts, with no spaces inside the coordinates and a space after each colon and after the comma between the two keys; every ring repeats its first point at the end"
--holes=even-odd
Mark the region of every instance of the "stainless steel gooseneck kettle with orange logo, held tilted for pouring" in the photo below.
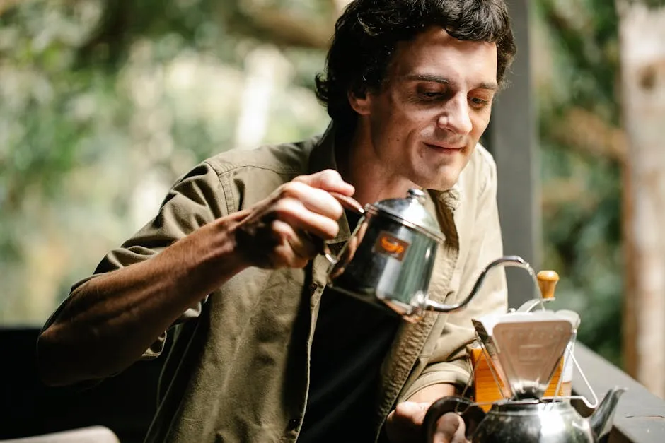
{"type": "MultiPolygon", "coordinates": [[[[327,244],[328,285],[366,302],[389,307],[407,321],[425,311],[452,312],[463,308],[478,292],[485,274],[499,264],[519,266],[533,274],[518,256],[501,257],[485,267],[471,293],[456,305],[429,300],[429,280],[439,245],[445,237],[424,206],[425,194],[409,189],[404,199],[386,199],[364,208],[347,196],[331,193],[342,206],[362,215],[337,256],[327,244]]],[[[534,277],[535,278],[535,277],[534,277]]]]}

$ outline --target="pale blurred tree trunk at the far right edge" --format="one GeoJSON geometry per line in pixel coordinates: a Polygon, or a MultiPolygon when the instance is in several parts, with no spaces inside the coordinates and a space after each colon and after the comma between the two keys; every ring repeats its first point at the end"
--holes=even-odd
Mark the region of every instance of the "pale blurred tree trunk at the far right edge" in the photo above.
{"type": "Polygon", "coordinates": [[[628,134],[623,346],[626,370],[665,398],[665,1],[655,3],[617,0],[628,134]]]}

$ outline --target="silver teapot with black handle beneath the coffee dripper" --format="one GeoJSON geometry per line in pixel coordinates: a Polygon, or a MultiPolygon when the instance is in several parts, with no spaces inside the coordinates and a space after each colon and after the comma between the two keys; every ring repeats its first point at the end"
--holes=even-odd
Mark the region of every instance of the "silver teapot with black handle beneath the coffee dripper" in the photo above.
{"type": "Polygon", "coordinates": [[[494,403],[485,413],[480,406],[459,396],[432,403],[423,421],[426,442],[432,442],[436,421],[445,413],[458,413],[466,425],[466,437],[473,443],[596,443],[611,428],[618,399],[625,391],[608,391],[589,418],[577,413],[569,401],[506,400],[494,403]]]}

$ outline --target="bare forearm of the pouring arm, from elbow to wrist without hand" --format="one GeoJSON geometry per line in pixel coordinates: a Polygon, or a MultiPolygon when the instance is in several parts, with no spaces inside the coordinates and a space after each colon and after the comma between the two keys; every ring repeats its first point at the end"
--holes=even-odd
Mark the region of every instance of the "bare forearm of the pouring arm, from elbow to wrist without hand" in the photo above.
{"type": "Polygon", "coordinates": [[[154,258],[88,280],[42,332],[42,379],[71,384],[120,372],[183,312],[245,264],[233,229],[243,213],[215,220],[154,258]]]}

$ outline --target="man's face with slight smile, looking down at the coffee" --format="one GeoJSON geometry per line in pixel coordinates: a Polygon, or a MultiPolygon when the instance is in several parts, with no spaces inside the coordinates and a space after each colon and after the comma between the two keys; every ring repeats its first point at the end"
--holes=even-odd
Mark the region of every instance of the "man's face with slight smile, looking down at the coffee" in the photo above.
{"type": "Polygon", "coordinates": [[[496,91],[495,43],[456,40],[429,28],[398,45],[381,90],[354,109],[391,174],[445,190],[487,128],[496,91]]]}

